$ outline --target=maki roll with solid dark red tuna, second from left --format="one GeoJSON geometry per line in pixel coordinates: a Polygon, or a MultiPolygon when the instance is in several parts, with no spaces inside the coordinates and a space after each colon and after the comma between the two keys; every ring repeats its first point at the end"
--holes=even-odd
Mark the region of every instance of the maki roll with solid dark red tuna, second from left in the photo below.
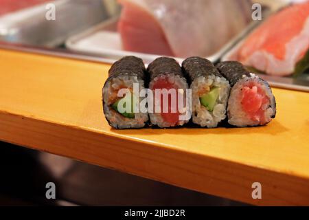
{"type": "Polygon", "coordinates": [[[160,57],[150,63],[147,70],[153,94],[153,103],[148,102],[150,122],[161,128],[183,126],[190,120],[191,112],[187,113],[190,108],[186,99],[188,85],[179,63],[173,58],[160,57]]]}

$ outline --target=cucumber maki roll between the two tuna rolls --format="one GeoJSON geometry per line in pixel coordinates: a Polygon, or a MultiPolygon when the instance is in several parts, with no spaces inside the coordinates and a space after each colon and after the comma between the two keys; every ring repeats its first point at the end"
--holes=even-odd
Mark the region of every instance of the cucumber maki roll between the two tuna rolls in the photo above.
{"type": "Polygon", "coordinates": [[[227,117],[229,81],[205,58],[187,58],[182,66],[192,89],[193,122],[208,128],[218,126],[227,117]]]}

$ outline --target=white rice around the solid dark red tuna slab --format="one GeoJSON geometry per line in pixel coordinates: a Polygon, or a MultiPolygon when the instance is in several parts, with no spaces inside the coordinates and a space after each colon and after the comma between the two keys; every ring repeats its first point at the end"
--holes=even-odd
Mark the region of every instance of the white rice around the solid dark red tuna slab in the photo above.
{"type": "MultiPolygon", "coordinates": [[[[188,89],[188,85],[187,85],[187,80],[185,80],[185,78],[175,75],[175,74],[161,74],[159,76],[157,76],[156,78],[154,78],[150,84],[149,84],[149,88],[153,89],[155,83],[157,82],[157,80],[159,80],[160,78],[163,78],[164,80],[168,80],[169,83],[174,84],[174,87],[179,88],[179,89],[184,89],[184,97],[186,96],[185,94],[185,90],[188,89]]],[[[155,91],[154,91],[155,94],[155,91]]],[[[155,104],[155,102],[154,102],[155,104]]],[[[185,105],[185,103],[184,103],[185,105]]],[[[185,113],[184,113],[185,115],[185,113]]],[[[155,113],[155,107],[154,107],[154,113],[149,113],[149,117],[150,117],[150,122],[153,125],[157,125],[161,128],[168,128],[170,126],[172,126],[170,123],[165,122],[165,120],[163,120],[161,113],[155,113]]],[[[189,118],[190,120],[190,118],[189,118]]],[[[189,122],[189,120],[179,120],[179,122],[176,124],[176,126],[183,126],[183,124],[186,124],[187,122],[189,122]]]]}

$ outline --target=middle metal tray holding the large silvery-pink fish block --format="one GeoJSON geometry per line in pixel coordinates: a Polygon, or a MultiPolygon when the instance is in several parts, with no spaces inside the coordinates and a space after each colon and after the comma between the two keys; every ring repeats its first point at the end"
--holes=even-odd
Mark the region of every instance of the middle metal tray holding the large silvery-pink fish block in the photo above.
{"type": "MultiPolygon", "coordinates": [[[[262,0],[260,0],[262,1],[262,0]]],[[[263,14],[264,17],[268,17],[271,12],[275,10],[273,7],[268,7],[266,3],[263,3],[263,14]]],[[[146,64],[153,61],[159,55],[155,54],[143,54],[138,52],[128,52],[122,50],[120,35],[117,32],[117,22],[119,20],[119,14],[108,21],[104,21],[99,25],[77,34],[76,36],[71,36],[67,39],[65,45],[66,47],[74,52],[81,52],[84,54],[91,54],[94,56],[101,56],[104,58],[111,58],[113,60],[118,60],[123,56],[135,55],[144,60],[146,64]],[[100,41],[100,45],[98,43],[100,41]]],[[[244,38],[251,30],[253,30],[257,25],[260,24],[260,21],[251,22],[247,28],[245,28],[240,34],[235,36],[231,41],[225,44],[223,47],[218,50],[215,54],[208,56],[206,58],[209,61],[216,62],[223,56],[227,51],[236,45],[238,41],[244,38]]],[[[175,57],[176,58],[176,57],[175,57]]],[[[183,58],[176,58],[177,61],[183,61],[183,58]]]]}

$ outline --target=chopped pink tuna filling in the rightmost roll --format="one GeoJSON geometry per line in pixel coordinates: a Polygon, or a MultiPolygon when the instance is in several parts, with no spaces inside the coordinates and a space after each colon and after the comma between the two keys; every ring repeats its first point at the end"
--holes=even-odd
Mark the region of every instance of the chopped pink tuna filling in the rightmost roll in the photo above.
{"type": "Polygon", "coordinates": [[[242,88],[242,109],[249,115],[251,120],[258,121],[260,124],[266,123],[264,104],[269,102],[265,91],[257,83],[249,83],[242,88]]]}

